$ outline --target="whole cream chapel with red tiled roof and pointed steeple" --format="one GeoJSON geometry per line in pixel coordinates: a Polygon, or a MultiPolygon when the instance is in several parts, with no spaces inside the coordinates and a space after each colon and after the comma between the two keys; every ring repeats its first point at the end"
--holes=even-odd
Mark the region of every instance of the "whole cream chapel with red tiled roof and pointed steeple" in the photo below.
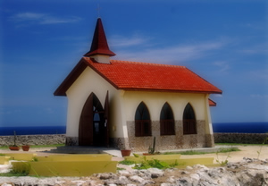
{"type": "Polygon", "coordinates": [[[54,96],[68,97],[66,145],[147,151],[214,147],[210,94],[222,90],[178,65],[112,60],[100,18],[91,48],[54,96]]]}

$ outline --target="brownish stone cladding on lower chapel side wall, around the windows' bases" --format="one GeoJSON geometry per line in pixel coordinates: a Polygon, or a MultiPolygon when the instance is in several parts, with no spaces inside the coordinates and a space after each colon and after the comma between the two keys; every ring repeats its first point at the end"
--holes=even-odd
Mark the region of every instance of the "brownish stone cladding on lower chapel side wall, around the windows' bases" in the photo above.
{"type": "Polygon", "coordinates": [[[182,121],[175,122],[175,135],[160,136],[160,122],[152,122],[152,136],[135,137],[135,122],[127,122],[130,148],[147,151],[153,144],[155,150],[214,147],[213,135],[205,134],[205,121],[197,121],[197,134],[183,135],[182,121]]]}

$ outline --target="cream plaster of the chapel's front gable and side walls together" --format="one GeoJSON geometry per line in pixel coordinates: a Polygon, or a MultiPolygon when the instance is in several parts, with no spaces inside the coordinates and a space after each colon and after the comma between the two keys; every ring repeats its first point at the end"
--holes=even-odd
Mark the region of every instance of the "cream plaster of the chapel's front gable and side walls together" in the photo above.
{"type": "MultiPolygon", "coordinates": [[[[210,121],[210,114],[207,113],[209,108],[207,109],[208,106],[206,106],[208,95],[118,90],[87,67],[66,92],[68,97],[67,137],[79,136],[80,114],[91,92],[94,92],[102,106],[105,106],[107,90],[109,90],[110,99],[110,137],[112,138],[128,138],[127,122],[134,121],[136,109],[141,101],[147,105],[152,121],[159,121],[165,102],[172,107],[176,121],[182,120],[184,108],[188,103],[193,106],[197,120],[210,121]]],[[[210,129],[207,128],[207,131],[210,129]]]]}

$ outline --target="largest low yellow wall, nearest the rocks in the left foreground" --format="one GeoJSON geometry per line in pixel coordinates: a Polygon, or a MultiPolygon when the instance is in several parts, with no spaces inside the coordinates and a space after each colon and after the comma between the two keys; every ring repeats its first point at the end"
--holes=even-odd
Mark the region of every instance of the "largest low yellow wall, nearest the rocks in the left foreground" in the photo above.
{"type": "Polygon", "coordinates": [[[93,173],[116,173],[115,161],[13,162],[15,172],[35,176],[89,176],[93,173]]]}

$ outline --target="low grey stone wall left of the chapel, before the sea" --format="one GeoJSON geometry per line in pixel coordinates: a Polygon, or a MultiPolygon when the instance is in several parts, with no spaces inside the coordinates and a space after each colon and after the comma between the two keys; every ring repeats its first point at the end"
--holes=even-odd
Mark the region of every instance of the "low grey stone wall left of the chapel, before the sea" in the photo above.
{"type": "MultiPolygon", "coordinates": [[[[16,145],[53,145],[64,144],[65,134],[52,135],[17,135],[16,145]]],[[[13,136],[0,136],[0,147],[14,144],[13,136]]]]}

